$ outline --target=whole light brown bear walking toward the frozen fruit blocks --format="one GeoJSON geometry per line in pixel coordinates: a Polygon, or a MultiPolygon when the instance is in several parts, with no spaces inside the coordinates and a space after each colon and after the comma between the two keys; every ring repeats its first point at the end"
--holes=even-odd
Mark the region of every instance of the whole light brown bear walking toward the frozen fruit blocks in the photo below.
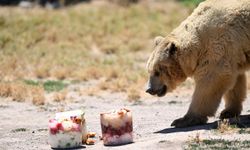
{"type": "Polygon", "coordinates": [[[240,115],[250,68],[250,1],[207,0],[167,37],[155,38],[148,89],[164,96],[187,77],[195,91],[186,115],[172,126],[204,124],[224,96],[220,118],[240,115]]]}

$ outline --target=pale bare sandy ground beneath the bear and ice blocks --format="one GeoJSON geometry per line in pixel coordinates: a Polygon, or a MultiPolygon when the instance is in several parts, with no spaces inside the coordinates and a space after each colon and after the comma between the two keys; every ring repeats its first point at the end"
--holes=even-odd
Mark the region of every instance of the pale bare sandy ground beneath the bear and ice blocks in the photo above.
{"type": "MultiPolygon", "coordinates": [[[[178,91],[178,90],[177,90],[178,91]]],[[[92,146],[80,149],[183,149],[186,142],[197,135],[201,138],[248,139],[248,134],[218,134],[213,129],[218,117],[210,118],[214,122],[204,126],[175,129],[171,122],[187,111],[192,91],[184,94],[172,93],[163,98],[148,97],[136,102],[128,102],[121,93],[104,93],[102,96],[75,96],[66,103],[50,103],[34,106],[28,102],[18,103],[0,99],[0,150],[43,150],[50,149],[48,139],[48,120],[55,112],[83,108],[86,112],[88,131],[101,133],[99,114],[110,109],[126,107],[133,112],[134,143],[105,147],[99,138],[92,146]]],[[[248,96],[250,97],[250,95],[248,96]]],[[[221,104],[218,113],[223,109],[221,104]]],[[[244,111],[250,109],[250,100],[246,100],[244,111]]],[[[218,116],[218,114],[216,115],[218,116]]]]}

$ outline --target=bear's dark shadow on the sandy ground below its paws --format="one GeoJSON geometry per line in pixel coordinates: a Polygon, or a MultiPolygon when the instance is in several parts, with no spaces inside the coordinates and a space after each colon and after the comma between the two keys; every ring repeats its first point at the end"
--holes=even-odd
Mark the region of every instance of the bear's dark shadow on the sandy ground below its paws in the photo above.
{"type": "MultiPolygon", "coordinates": [[[[156,131],[154,133],[168,134],[168,133],[175,133],[175,132],[188,132],[188,131],[194,131],[194,130],[211,130],[211,129],[216,129],[218,127],[218,121],[207,123],[205,125],[192,126],[192,127],[186,127],[186,128],[166,128],[160,131],[156,131]]],[[[250,127],[250,115],[241,115],[239,118],[230,118],[229,124],[236,125],[239,128],[250,127]]]]}

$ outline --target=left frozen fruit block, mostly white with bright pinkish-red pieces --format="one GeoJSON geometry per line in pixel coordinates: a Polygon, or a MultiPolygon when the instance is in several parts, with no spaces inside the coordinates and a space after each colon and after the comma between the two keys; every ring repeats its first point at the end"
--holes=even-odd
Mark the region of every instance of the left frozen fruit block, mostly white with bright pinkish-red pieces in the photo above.
{"type": "Polygon", "coordinates": [[[56,113],[49,121],[49,144],[52,148],[74,148],[87,140],[86,123],[82,110],[56,113]]]}

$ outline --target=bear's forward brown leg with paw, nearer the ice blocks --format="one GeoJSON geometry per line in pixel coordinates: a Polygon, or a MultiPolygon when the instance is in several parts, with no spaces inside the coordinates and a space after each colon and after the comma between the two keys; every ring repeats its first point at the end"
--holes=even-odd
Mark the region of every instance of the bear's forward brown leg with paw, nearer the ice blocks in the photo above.
{"type": "Polygon", "coordinates": [[[234,83],[234,77],[228,74],[211,73],[196,80],[195,92],[187,114],[175,120],[171,126],[188,127],[205,124],[208,116],[213,116],[227,89],[234,83]]]}

